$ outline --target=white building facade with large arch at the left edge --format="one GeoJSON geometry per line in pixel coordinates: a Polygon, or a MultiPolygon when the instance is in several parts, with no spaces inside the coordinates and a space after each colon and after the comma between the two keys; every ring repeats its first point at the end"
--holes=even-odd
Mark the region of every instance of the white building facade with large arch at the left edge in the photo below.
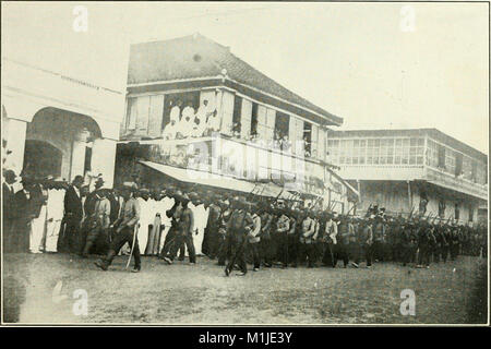
{"type": "Polygon", "coordinates": [[[112,185],[123,93],[2,57],[1,106],[3,168],[112,185]]]}

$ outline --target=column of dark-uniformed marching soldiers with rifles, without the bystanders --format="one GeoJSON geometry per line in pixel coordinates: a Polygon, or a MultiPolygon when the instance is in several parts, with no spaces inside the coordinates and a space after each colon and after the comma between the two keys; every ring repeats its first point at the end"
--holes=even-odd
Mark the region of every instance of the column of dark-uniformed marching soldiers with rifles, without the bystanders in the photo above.
{"type": "MultiPolygon", "coordinates": [[[[136,198],[141,191],[135,186],[130,183],[124,190],[124,196],[133,202],[133,208],[127,218],[121,218],[132,224],[124,224],[123,228],[119,226],[120,231],[127,229],[125,238],[96,263],[104,270],[124,243],[133,245],[133,272],[141,269],[141,249],[137,248],[141,234],[132,232],[139,229],[135,221],[142,212],[136,198]]],[[[388,261],[429,267],[431,261],[456,260],[462,253],[487,256],[486,226],[470,228],[443,221],[435,225],[418,217],[386,217],[383,212],[354,218],[288,207],[288,203],[259,197],[230,197],[212,191],[183,194],[171,186],[163,194],[172,201],[172,205],[165,210],[169,229],[165,237],[160,236],[163,243],[157,244],[159,258],[172,264],[178,252],[185,246],[190,264],[195,264],[195,246],[201,245],[203,254],[217,258],[217,264],[225,266],[227,276],[233,269],[238,269],[238,275],[246,275],[248,262],[256,272],[275,264],[283,268],[303,263],[308,267],[316,267],[321,262],[336,267],[338,261],[343,261],[344,267],[352,265],[357,268],[361,262],[370,268],[373,262],[388,261]],[[195,210],[191,209],[191,206],[200,205],[206,210],[202,243],[195,241],[200,232],[195,226],[195,210]]],[[[116,226],[118,222],[110,228],[116,226]]],[[[155,233],[149,233],[148,239],[158,240],[155,233]]],[[[147,242],[146,245],[152,244],[147,242]]],[[[180,255],[183,258],[182,252],[180,255]]]]}

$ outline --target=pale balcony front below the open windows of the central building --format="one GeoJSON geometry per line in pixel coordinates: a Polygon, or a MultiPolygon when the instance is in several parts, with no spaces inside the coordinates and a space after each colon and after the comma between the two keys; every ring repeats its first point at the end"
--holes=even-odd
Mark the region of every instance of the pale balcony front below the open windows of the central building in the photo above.
{"type": "Polygon", "coordinates": [[[140,160],[250,182],[273,182],[315,196],[325,194],[325,163],[295,155],[291,148],[282,151],[267,142],[213,133],[205,137],[123,143],[137,149],[132,154],[137,154],[140,160]]]}

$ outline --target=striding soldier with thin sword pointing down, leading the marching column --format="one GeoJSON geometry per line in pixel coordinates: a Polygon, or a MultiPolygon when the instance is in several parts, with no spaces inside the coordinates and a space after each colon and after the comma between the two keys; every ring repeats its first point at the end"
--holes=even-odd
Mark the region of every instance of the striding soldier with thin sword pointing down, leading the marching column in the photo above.
{"type": "Polygon", "coordinates": [[[140,205],[135,198],[137,186],[134,182],[124,182],[121,195],[124,198],[121,216],[109,228],[116,229],[115,238],[109,245],[107,255],[101,260],[95,262],[95,265],[103,270],[107,270],[111,265],[112,260],[118,254],[119,250],[128,242],[132,245],[134,256],[134,267],[132,273],[139,273],[142,267],[140,260],[140,246],[136,237],[135,227],[140,220],[140,205]]]}

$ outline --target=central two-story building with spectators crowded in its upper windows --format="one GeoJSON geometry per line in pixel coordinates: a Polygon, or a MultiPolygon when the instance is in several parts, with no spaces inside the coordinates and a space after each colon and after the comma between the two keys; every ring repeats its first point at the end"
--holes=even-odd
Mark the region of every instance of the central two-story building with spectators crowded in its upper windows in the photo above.
{"type": "Polygon", "coordinates": [[[356,190],[325,159],[327,127],[342,122],[199,34],[132,45],[117,181],[270,183],[347,208],[356,190]]]}

